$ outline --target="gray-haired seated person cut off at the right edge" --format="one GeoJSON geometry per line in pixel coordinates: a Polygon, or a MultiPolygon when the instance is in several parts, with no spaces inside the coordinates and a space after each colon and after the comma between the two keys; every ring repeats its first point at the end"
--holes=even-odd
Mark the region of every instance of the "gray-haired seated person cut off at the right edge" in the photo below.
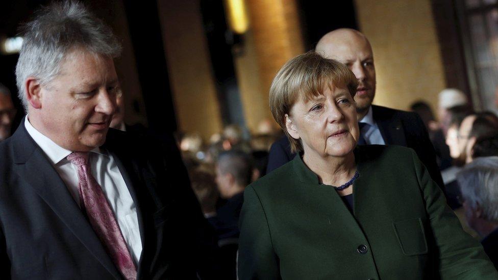
{"type": "Polygon", "coordinates": [[[468,225],[498,268],[498,157],[477,158],[457,174],[468,225]]]}

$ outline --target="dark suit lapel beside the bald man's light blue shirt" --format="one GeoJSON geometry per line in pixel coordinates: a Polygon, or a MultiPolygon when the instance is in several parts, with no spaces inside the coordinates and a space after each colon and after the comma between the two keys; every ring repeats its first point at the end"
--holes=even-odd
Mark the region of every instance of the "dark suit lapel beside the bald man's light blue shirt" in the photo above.
{"type": "Polygon", "coordinates": [[[401,119],[393,110],[372,105],[372,115],[379,126],[382,138],[386,145],[406,146],[405,131],[401,119]]]}

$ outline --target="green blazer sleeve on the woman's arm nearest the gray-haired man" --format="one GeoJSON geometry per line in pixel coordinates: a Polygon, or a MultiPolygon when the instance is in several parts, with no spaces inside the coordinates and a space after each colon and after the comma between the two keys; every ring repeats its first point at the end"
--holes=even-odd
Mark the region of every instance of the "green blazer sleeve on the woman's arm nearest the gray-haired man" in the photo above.
{"type": "Polygon", "coordinates": [[[244,191],[237,267],[240,280],[280,279],[278,257],[273,250],[266,215],[252,186],[244,191]]]}

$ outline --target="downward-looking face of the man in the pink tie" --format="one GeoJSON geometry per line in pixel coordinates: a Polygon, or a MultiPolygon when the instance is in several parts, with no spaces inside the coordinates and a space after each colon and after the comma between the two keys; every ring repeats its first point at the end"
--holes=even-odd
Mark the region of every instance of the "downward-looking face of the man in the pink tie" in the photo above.
{"type": "Polygon", "coordinates": [[[45,136],[68,150],[88,151],[106,140],[118,91],[112,59],[77,49],[61,62],[60,74],[41,87],[41,108],[30,109],[38,111],[34,116],[45,136]]]}

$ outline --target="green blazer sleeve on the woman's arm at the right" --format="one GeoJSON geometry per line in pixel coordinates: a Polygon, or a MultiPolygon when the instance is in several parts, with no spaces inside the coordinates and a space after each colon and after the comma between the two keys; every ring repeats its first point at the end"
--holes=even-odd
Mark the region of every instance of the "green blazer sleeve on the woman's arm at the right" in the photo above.
{"type": "Polygon", "coordinates": [[[462,230],[442,191],[413,151],[412,158],[439,252],[441,279],[498,279],[481,244],[462,230]]]}

